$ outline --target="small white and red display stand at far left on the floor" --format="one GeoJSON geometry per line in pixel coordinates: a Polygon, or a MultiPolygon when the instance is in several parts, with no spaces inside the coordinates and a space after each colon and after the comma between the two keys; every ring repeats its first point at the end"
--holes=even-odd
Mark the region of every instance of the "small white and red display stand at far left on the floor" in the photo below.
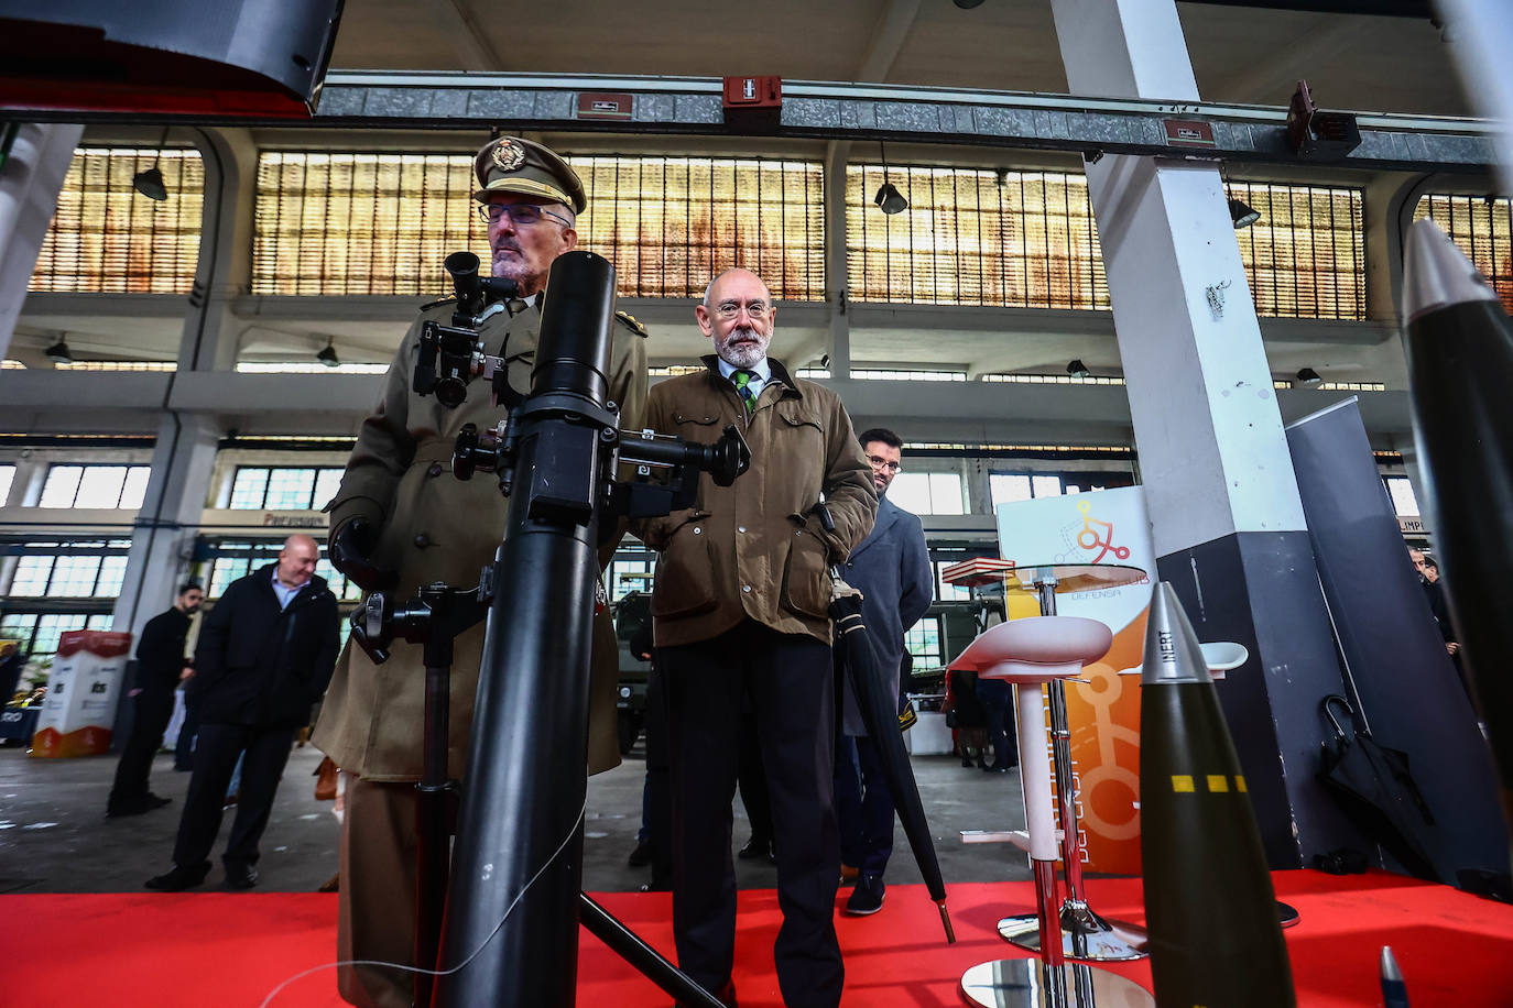
{"type": "Polygon", "coordinates": [[[68,630],[59,638],[32,756],[100,756],[110,750],[130,650],[130,633],[68,630]]]}

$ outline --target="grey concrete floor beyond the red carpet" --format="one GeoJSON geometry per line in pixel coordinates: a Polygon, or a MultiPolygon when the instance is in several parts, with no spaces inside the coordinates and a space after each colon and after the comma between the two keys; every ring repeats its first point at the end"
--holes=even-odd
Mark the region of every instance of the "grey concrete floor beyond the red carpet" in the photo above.
{"type": "MultiPolygon", "coordinates": [[[[262,840],[257,866],[260,892],[310,892],[337,866],[337,822],[331,802],[315,799],[315,768],[321,753],[295,748],[284,771],[272,819],[262,840]]],[[[189,774],[172,769],[162,754],[153,766],[151,787],[174,804],[142,816],[106,819],[106,795],[115,757],[30,759],[23,748],[0,748],[0,893],[107,893],[138,892],[142,883],[169,867],[179,812],[189,774]]],[[[1029,878],[1026,857],[1008,845],[964,845],[961,830],[1023,828],[1017,774],[983,774],[947,756],[915,756],[914,774],[935,836],[935,849],[947,884],[1029,878]]],[[[625,763],[589,780],[584,827],[584,889],[634,890],[651,869],[629,867],[640,827],[645,757],[637,747],[625,763]]],[[[231,816],[222,824],[221,845],[231,816]]],[[[735,801],[735,846],[750,828],[735,801]]],[[[776,886],[776,869],[766,861],[737,860],[741,887],[776,886]]],[[[920,872],[899,831],[887,881],[918,883],[920,872]]],[[[219,863],[206,890],[222,887],[219,863]]]]}

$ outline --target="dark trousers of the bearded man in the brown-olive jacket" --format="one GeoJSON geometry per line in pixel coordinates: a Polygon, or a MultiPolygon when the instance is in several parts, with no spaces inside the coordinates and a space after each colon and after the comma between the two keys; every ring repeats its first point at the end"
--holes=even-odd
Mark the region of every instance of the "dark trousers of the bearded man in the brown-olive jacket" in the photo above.
{"type": "Polygon", "coordinates": [[[829,644],[746,621],[711,641],[658,651],[667,686],[673,786],[673,937],[678,964],[720,990],[735,957],[731,801],[749,701],[778,854],[782,928],[773,945],[790,1008],[840,1003],[832,795],[835,695],[829,644]]]}

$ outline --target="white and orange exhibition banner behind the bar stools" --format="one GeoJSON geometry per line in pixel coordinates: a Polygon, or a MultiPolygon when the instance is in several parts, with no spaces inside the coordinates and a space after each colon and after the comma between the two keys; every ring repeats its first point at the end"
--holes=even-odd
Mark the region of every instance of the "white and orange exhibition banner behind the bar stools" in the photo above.
{"type": "MultiPolygon", "coordinates": [[[[1089,870],[1139,873],[1139,677],[1145,612],[1156,570],[1145,494],[1120,487],[999,505],[999,547],[1018,567],[1118,564],[1147,576],[1121,588],[1067,591],[1056,614],[1098,620],[1114,632],[1109,653],[1067,683],[1076,762],[1080,846],[1089,870]]],[[[1086,582],[1089,579],[1077,579],[1086,582]]],[[[1074,586],[1064,582],[1064,586],[1074,586]]],[[[1009,589],[1017,589],[1009,579],[1009,589]]]]}

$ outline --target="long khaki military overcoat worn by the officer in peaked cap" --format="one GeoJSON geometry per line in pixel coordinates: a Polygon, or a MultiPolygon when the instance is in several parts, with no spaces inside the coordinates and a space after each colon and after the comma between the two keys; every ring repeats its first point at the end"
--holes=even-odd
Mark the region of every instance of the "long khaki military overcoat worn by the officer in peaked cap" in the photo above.
{"type": "MultiPolygon", "coordinates": [[[[483,567],[493,562],[505,527],[508,502],[498,482],[489,476],[461,482],[451,473],[452,444],[463,425],[474,423],[483,431],[508,413],[492,405],[489,382],[474,381],[468,400],[455,410],[436,396],[410,391],[422,322],[449,325],[451,314],[451,302],[427,305],[410,326],[389,366],[383,397],[363,420],[340,490],[327,506],[333,535],[353,518],[374,523],[378,529],[374,561],[398,571],[395,597],[401,600],[437,580],[454,588],[477,585],[483,567]]],[[[513,319],[499,313],[480,332],[484,349],[508,361],[510,384],[520,391],[530,390],[540,317],[537,307],[527,307],[513,319]]],[[[626,319],[620,316],[614,326],[610,399],[620,404],[622,426],[637,428],[646,405],[646,331],[626,319]]],[[[613,552],[613,546],[601,550],[601,565],[613,552]]],[[[480,623],[455,644],[448,772],[457,778],[468,762],[483,638],[480,623]]],[[[620,762],[614,725],[619,659],[607,608],[595,617],[593,654],[589,766],[598,772],[620,762]]],[[[374,665],[362,648],[348,642],[336,662],[312,741],[337,766],[365,778],[419,780],[424,712],[425,668],[419,645],[396,644],[387,662],[374,665]]]]}

